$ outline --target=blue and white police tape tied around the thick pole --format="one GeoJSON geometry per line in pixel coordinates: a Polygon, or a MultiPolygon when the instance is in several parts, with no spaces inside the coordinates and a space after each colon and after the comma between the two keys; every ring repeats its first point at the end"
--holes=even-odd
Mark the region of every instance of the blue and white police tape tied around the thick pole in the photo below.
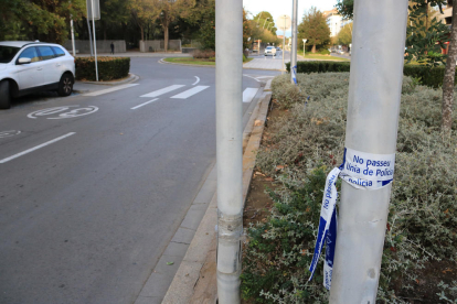
{"type": "Polygon", "coordinates": [[[343,163],[333,169],[326,181],[322,207],[320,209],[319,230],[316,240],[315,254],[309,271],[311,276],[316,271],[320,252],[326,243],[326,261],[323,264],[323,286],[331,287],[333,272],[334,247],[337,245],[337,180],[338,176],[359,189],[374,191],[385,187],[393,181],[395,154],[372,154],[344,149],[343,163]]]}

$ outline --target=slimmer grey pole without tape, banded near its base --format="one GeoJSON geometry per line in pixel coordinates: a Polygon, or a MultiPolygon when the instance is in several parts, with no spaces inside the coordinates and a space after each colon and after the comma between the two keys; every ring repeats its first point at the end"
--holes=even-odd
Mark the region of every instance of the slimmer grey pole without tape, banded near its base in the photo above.
{"type": "Polygon", "coordinates": [[[216,1],[217,295],[241,302],[243,0],[216,1]]]}

